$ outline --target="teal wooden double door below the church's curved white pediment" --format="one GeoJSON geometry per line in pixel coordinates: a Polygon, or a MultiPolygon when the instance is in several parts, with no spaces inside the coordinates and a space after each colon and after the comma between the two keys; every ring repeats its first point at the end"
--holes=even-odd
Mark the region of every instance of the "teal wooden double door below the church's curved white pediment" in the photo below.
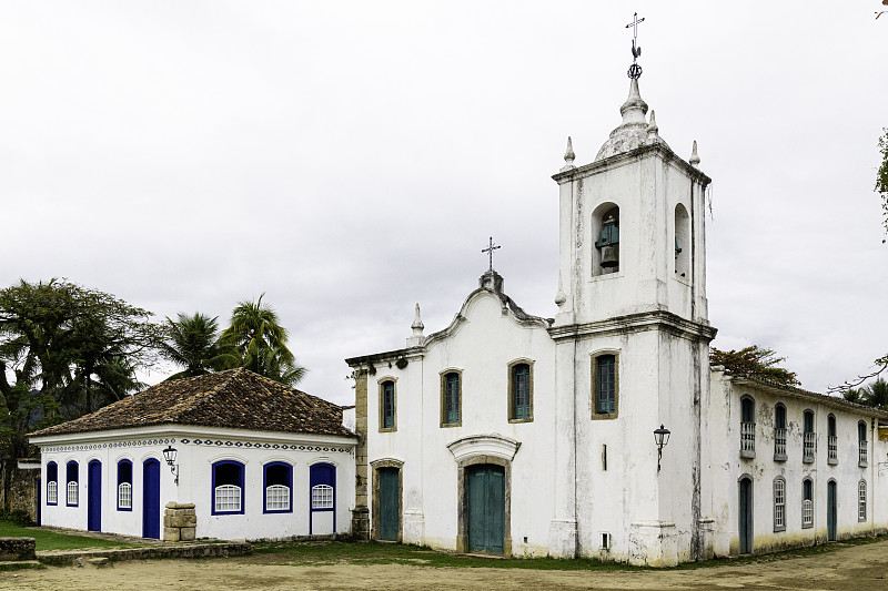
{"type": "Polygon", "coordinates": [[[482,465],[466,470],[468,549],[502,554],[505,548],[505,472],[502,466],[482,465]]]}

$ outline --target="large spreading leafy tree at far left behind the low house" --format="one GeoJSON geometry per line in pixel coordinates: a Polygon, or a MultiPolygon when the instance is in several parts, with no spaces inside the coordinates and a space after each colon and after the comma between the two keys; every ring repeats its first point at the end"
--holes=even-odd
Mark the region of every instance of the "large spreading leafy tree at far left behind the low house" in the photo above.
{"type": "Polygon", "coordinates": [[[139,389],[159,337],[150,316],[67,281],[0,289],[0,456],[23,457],[30,430],[139,389]]]}

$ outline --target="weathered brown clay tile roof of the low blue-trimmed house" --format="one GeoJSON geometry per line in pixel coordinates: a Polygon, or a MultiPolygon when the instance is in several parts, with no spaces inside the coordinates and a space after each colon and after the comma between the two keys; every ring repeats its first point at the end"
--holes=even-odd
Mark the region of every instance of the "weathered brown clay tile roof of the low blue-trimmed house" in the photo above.
{"type": "Polygon", "coordinates": [[[342,408],[243,368],[157,386],[31,437],[150,425],[192,425],[354,437],[342,408]]]}

